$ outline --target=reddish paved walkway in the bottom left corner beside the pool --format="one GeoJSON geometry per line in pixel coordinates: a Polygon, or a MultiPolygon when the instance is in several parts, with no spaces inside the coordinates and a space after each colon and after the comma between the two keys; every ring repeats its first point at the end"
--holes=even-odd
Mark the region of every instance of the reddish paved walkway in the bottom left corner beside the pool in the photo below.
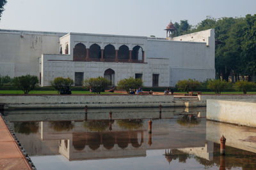
{"type": "Polygon", "coordinates": [[[0,116],[0,169],[32,169],[0,116]]]}

